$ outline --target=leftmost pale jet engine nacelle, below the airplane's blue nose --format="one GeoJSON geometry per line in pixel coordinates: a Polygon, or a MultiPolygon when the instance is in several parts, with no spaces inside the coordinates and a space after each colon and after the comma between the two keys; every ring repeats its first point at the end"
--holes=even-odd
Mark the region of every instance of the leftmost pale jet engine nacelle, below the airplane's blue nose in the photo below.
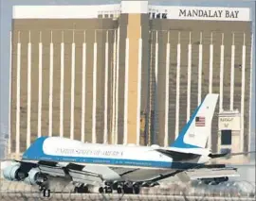
{"type": "Polygon", "coordinates": [[[20,163],[14,163],[3,170],[3,176],[10,181],[20,181],[22,178],[20,173],[20,163]]]}

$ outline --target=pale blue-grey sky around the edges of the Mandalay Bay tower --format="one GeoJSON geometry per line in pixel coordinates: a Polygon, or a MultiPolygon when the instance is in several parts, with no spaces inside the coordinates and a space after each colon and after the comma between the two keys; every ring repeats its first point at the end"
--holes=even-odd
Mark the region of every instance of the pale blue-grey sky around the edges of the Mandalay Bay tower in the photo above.
{"type": "MultiPolygon", "coordinates": [[[[8,133],[9,126],[9,31],[11,30],[12,6],[14,5],[90,5],[90,4],[113,4],[120,1],[111,0],[0,0],[0,131],[8,133]]],[[[197,7],[246,7],[251,8],[252,31],[255,33],[255,0],[244,1],[149,1],[152,5],[168,6],[197,6],[197,7]]],[[[254,37],[255,39],[255,37],[254,37]]],[[[255,40],[254,40],[255,43],[255,40]]],[[[253,48],[255,55],[255,45],[253,48]]],[[[252,130],[255,135],[255,57],[253,59],[253,92],[252,92],[252,130]]],[[[253,137],[255,147],[255,136],[253,137]]],[[[255,148],[253,148],[255,150],[255,148]]]]}

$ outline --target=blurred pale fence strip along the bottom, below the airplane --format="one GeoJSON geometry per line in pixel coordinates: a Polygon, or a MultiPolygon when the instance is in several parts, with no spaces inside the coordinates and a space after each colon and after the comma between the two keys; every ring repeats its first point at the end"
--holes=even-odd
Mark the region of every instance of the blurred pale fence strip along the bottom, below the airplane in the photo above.
{"type": "Polygon", "coordinates": [[[21,182],[1,181],[0,200],[248,200],[255,201],[255,184],[229,181],[206,185],[198,181],[168,182],[152,188],[142,188],[139,194],[73,193],[73,186],[57,184],[50,196],[44,197],[38,187],[21,182]]]}

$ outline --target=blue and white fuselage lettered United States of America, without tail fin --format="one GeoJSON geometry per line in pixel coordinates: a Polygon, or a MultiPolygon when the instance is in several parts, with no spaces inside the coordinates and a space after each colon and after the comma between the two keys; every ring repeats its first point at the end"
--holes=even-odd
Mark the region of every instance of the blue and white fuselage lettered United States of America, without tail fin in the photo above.
{"type": "Polygon", "coordinates": [[[30,146],[24,154],[25,160],[48,160],[99,164],[107,166],[137,167],[150,169],[188,169],[205,163],[208,159],[198,156],[193,159],[176,159],[166,156],[151,146],[112,145],[83,143],[64,138],[42,138],[43,149],[30,146]]]}

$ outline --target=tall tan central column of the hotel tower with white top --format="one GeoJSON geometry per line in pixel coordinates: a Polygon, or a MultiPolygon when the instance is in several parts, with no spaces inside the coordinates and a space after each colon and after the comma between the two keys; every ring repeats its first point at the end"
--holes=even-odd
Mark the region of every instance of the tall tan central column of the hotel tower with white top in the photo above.
{"type": "MultiPolygon", "coordinates": [[[[141,97],[142,91],[146,89],[144,87],[144,83],[146,83],[144,75],[148,72],[145,71],[144,67],[146,65],[144,51],[147,51],[145,47],[149,35],[148,2],[122,1],[121,13],[122,23],[126,24],[120,25],[120,33],[122,33],[120,38],[125,40],[125,44],[122,45],[125,45],[126,50],[125,60],[122,60],[125,62],[123,142],[140,144],[140,114],[145,108],[145,101],[141,97]],[[123,27],[127,28],[126,34],[122,29],[123,27]],[[144,28],[147,31],[143,30],[144,28]],[[126,36],[123,39],[124,35],[126,36]]],[[[121,72],[119,73],[121,75],[121,72]]],[[[120,102],[119,104],[121,105],[120,102]]]]}

